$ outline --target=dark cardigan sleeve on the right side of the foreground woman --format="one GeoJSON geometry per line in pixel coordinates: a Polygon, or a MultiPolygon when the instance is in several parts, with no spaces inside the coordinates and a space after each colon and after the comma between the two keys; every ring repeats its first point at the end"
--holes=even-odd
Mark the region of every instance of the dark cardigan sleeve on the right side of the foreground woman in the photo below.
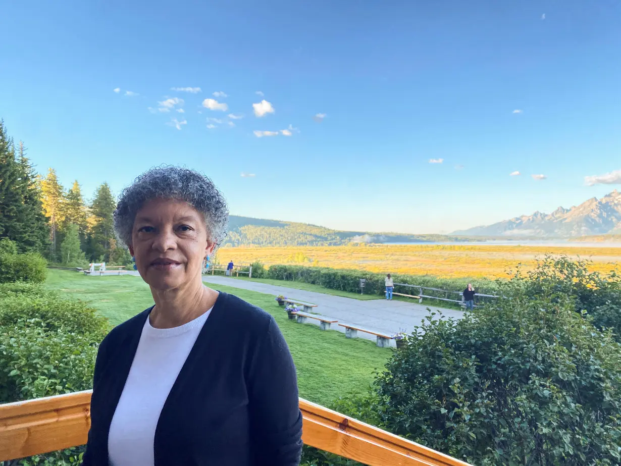
{"type": "Polygon", "coordinates": [[[296,367],[289,347],[270,316],[248,371],[253,450],[261,466],[297,466],[302,453],[302,413],[296,367]]]}

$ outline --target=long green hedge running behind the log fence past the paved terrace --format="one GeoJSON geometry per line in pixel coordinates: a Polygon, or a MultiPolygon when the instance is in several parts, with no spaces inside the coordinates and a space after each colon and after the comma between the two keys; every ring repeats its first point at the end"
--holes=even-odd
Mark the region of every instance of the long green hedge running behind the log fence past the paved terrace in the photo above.
{"type": "MultiPolygon", "coordinates": [[[[254,276],[253,269],[253,276],[254,276]]],[[[267,273],[267,278],[275,280],[302,281],[304,283],[312,283],[312,285],[321,285],[332,290],[351,291],[352,293],[360,293],[360,278],[366,280],[365,295],[384,296],[386,287],[384,286],[383,273],[366,272],[364,270],[347,270],[327,267],[304,267],[302,265],[272,265],[267,273]]],[[[438,278],[432,275],[405,275],[393,274],[392,279],[395,283],[407,283],[408,285],[428,286],[430,288],[438,288],[448,291],[463,291],[468,283],[472,283],[479,293],[486,295],[494,295],[499,292],[496,281],[486,279],[465,280],[459,278],[438,278]]],[[[401,287],[396,285],[396,291],[404,292],[409,295],[417,295],[419,290],[401,287]]],[[[428,296],[437,296],[443,298],[444,293],[424,290],[424,294],[428,296]]],[[[458,298],[457,295],[453,297],[458,298]]],[[[451,295],[449,295],[451,298],[451,295]]]]}

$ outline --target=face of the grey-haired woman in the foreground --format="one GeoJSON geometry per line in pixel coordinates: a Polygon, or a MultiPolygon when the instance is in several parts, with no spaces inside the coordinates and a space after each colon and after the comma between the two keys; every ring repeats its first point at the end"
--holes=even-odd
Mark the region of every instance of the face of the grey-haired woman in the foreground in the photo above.
{"type": "Polygon", "coordinates": [[[200,280],[202,261],[214,250],[204,217],[184,201],[153,199],[138,211],[129,248],[140,276],[170,290],[200,280]]]}

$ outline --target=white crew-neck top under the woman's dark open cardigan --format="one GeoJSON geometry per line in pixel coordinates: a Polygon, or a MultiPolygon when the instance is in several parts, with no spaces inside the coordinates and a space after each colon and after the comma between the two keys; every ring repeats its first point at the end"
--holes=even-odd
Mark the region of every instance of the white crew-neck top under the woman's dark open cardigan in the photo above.
{"type": "Polygon", "coordinates": [[[112,466],[153,466],[161,409],[210,313],[172,329],[156,329],[147,318],[110,424],[112,466]]]}

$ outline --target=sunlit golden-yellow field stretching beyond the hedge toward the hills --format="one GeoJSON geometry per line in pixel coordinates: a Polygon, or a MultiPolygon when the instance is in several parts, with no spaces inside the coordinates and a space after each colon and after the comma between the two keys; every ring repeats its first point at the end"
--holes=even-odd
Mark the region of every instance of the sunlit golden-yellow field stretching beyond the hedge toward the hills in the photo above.
{"type": "Polygon", "coordinates": [[[609,272],[621,259],[619,247],[530,245],[363,245],[337,247],[233,247],[218,252],[219,262],[291,264],[353,268],[369,272],[411,273],[456,278],[499,278],[518,263],[533,267],[545,254],[590,258],[592,270],[609,272]]]}

